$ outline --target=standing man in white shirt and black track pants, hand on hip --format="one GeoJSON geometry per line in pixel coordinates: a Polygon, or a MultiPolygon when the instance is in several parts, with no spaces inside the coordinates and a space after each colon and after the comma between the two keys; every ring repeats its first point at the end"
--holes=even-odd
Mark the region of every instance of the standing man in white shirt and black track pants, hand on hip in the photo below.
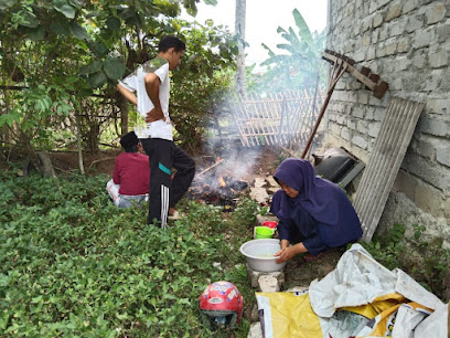
{"type": "Polygon", "coordinates": [[[168,215],[183,197],[195,175],[195,162],[173,142],[169,116],[170,77],[184,54],[185,44],[175,36],[164,36],[158,45],[157,57],[143,63],[119,81],[117,88],[137,105],[146,122],[135,133],[149,156],[149,224],[167,228],[168,215]],[[172,168],[176,173],[172,178],[172,168]]]}

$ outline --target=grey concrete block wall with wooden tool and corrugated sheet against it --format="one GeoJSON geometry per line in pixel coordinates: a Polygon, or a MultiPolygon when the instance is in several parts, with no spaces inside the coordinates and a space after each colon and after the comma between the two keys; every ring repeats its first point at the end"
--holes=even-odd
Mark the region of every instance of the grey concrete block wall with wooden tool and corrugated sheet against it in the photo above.
{"type": "Polygon", "coordinates": [[[329,50],[369,67],[389,89],[375,98],[345,74],[325,114],[324,142],[367,161],[389,98],[425,102],[379,226],[410,225],[414,209],[450,243],[442,232],[450,226],[450,0],[329,0],[328,30],[329,50]]]}

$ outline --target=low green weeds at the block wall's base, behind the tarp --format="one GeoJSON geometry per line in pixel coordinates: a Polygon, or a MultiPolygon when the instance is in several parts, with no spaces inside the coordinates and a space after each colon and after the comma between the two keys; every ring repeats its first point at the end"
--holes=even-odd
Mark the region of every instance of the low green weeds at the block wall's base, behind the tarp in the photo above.
{"type": "Polygon", "coordinates": [[[425,237],[426,228],[413,224],[411,236],[406,228],[394,224],[385,234],[377,235],[363,246],[388,268],[401,268],[441,299],[450,298],[450,250],[442,239],[425,237]]]}

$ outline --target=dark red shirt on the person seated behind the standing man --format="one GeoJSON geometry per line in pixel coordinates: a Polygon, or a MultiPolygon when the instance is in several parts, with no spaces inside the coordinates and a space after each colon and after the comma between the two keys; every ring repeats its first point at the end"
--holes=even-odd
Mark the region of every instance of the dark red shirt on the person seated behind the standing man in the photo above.
{"type": "Polygon", "coordinates": [[[122,152],[116,158],[113,180],[120,184],[119,193],[127,196],[149,192],[149,157],[139,152],[122,152]]]}

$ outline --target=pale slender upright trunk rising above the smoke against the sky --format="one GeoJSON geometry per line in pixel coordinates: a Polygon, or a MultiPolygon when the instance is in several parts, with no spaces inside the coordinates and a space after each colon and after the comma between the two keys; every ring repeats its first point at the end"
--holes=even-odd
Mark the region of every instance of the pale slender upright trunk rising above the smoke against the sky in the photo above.
{"type": "Polygon", "coordinates": [[[237,54],[237,73],[236,89],[239,95],[246,94],[246,74],[245,74],[245,17],[246,0],[236,0],[236,21],[235,32],[238,34],[238,54],[237,54]]]}

